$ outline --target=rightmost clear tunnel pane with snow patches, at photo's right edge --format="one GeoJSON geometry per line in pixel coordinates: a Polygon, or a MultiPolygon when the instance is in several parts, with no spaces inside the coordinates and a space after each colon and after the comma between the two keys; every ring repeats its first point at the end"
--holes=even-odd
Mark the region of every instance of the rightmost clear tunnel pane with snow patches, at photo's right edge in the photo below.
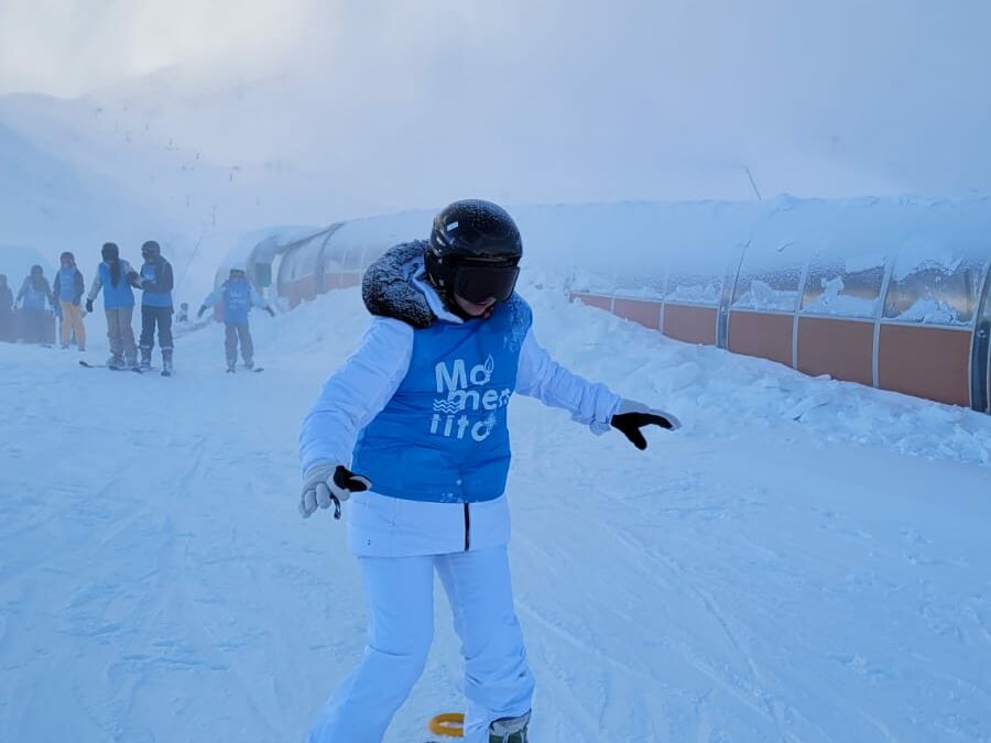
{"type": "Polygon", "coordinates": [[[980,297],[988,251],[917,240],[895,259],[884,318],[967,327],[980,297]]]}

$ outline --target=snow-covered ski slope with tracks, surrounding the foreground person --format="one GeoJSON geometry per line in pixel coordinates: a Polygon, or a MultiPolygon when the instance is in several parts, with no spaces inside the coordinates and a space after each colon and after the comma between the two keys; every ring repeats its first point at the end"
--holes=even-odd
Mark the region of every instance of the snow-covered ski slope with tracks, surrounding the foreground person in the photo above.
{"type": "MultiPolygon", "coordinates": [[[[523,293],[556,358],[685,423],[640,452],[511,405],[536,743],[991,740],[991,417],[523,293]]],[[[366,324],[356,289],[255,313],[266,370],[235,376],[216,325],[167,380],[0,345],[0,741],[303,739],[364,608],[296,436],[366,324]]],[[[460,708],[436,602],[389,743],[460,708]]]]}

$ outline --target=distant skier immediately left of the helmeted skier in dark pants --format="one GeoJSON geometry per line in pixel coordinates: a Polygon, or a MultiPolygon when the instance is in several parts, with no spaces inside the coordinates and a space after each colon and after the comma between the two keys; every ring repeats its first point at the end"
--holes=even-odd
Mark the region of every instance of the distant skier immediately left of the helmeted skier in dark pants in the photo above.
{"type": "Polygon", "coordinates": [[[104,260],[92,277],[86,297],[86,312],[92,312],[94,299],[102,289],[107,338],[110,341],[107,365],[110,369],[138,369],[138,348],[134,346],[134,330],[131,328],[134,316],[134,292],[131,287],[138,284],[138,272],[120,258],[117,243],[105,242],[100,255],[104,260]]]}

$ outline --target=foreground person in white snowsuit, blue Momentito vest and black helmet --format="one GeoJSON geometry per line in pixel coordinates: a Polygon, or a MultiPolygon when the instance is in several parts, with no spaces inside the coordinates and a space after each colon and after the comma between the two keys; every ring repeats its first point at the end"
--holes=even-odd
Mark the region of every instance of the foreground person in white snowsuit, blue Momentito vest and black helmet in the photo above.
{"type": "Polygon", "coordinates": [[[423,671],[433,576],[465,658],[468,743],[524,743],[534,681],[513,609],[507,544],[507,404],[514,392],[571,413],[596,434],[674,429],[667,413],[622,400],[558,365],[514,293],[520,232],[501,207],[455,201],[429,241],[398,245],[364,275],[375,317],[303,422],[300,511],[352,500],[369,641],[307,743],[379,743],[423,671]]]}

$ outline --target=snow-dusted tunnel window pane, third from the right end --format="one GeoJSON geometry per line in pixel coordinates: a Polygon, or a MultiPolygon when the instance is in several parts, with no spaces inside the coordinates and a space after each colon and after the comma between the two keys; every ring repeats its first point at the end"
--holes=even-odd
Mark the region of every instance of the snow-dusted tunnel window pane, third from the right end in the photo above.
{"type": "Polygon", "coordinates": [[[751,244],[733,289],[733,309],[793,313],[808,249],[792,240],[751,244]]]}

